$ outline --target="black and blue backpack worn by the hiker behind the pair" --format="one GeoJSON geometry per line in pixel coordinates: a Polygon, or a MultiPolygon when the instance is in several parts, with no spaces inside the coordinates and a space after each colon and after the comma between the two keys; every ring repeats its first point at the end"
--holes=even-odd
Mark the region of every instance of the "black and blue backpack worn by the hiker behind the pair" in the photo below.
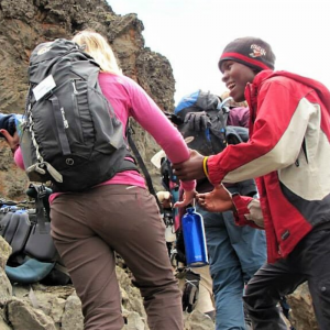
{"type": "Polygon", "coordinates": [[[205,156],[223,151],[228,144],[249,139],[249,130],[227,125],[230,108],[227,100],[202,90],[185,96],[169,119],[177,125],[187,145],[205,156]]]}

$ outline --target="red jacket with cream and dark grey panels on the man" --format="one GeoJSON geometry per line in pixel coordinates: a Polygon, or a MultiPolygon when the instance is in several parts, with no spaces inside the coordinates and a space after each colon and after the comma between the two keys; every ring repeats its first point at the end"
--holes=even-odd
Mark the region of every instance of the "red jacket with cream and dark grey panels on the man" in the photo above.
{"type": "Polygon", "coordinates": [[[210,156],[209,178],[213,185],[256,178],[268,262],[275,262],[330,221],[330,92],[312,79],[264,70],[245,99],[250,140],[210,156]]]}

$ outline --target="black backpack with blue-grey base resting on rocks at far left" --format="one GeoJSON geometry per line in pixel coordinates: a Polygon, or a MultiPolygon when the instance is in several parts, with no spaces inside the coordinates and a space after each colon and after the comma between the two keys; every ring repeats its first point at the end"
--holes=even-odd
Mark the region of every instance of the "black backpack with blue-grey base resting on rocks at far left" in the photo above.
{"type": "Polygon", "coordinates": [[[50,232],[52,190],[31,184],[23,201],[0,199],[0,235],[10,244],[6,275],[12,283],[66,285],[70,282],[50,232]]]}

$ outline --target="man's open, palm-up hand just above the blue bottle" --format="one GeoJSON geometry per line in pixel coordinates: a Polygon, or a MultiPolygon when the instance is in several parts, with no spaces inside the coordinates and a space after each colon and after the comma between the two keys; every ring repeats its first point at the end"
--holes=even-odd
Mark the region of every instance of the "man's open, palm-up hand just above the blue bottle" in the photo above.
{"type": "Polygon", "coordinates": [[[197,202],[201,208],[209,212],[224,212],[234,210],[231,194],[223,185],[216,186],[215,189],[207,194],[197,194],[197,202]]]}

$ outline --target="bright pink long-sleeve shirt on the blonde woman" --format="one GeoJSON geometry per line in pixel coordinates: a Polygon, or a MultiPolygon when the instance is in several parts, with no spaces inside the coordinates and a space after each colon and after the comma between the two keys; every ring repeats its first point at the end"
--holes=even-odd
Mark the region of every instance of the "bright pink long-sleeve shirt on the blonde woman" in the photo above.
{"type": "MultiPolygon", "coordinates": [[[[132,117],[155,139],[172,163],[180,163],[189,158],[188,147],[180,133],[139,84],[129,77],[108,73],[99,74],[99,82],[103,95],[122,122],[124,132],[128,119],[132,117]]],[[[20,148],[14,154],[14,161],[18,166],[24,168],[20,148]]],[[[145,188],[145,180],[136,170],[118,173],[101,185],[114,184],[145,188]]],[[[195,186],[194,180],[182,183],[182,187],[187,191],[193,190],[195,186]]],[[[51,200],[56,196],[53,194],[51,200]]]]}

